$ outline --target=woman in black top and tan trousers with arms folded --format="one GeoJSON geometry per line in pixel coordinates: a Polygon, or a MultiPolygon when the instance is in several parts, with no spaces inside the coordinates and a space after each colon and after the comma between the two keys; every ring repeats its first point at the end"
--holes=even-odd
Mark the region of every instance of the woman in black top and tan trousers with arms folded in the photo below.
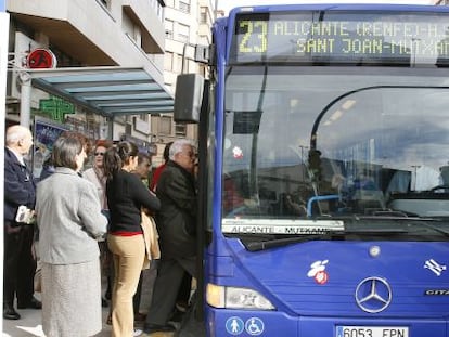
{"type": "Polygon", "coordinates": [[[158,198],[132,173],[138,164],[138,147],[120,142],[104,155],[107,205],[111,228],[107,244],[113,254],[115,277],[112,297],[112,336],[133,334],[132,297],[139,284],[145,257],[141,210],[157,211],[158,198]]]}

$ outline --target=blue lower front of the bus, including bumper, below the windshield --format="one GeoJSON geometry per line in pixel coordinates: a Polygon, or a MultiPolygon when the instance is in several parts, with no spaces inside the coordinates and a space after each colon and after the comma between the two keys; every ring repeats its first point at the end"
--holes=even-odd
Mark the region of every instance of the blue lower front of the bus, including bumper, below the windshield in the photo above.
{"type": "Polygon", "coordinates": [[[337,325],[408,326],[411,337],[448,336],[448,243],[308,242],[251,252],[238,239],[224,242],[220,267],[209,264],[209,282],[255,289],[277,310],[207,308],[211,336],[229,336],[226,326],[233,316],[245,324],[259,319],[264,336],[337,336],[337,325]],[[381,312],[357,304],[358,287],[370,293],[370,283],[359,286],[369,277],[390,287],[390,303],[381,312]]]}

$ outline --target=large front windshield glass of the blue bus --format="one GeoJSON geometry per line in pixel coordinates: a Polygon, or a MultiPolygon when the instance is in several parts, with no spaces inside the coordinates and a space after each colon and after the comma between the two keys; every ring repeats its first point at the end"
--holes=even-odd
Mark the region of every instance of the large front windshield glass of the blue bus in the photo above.
{"type": "Polygon", "coordinates": [[[448,217],[448,78],[436,67],[230,66],[223,223],[448,217]]]}

